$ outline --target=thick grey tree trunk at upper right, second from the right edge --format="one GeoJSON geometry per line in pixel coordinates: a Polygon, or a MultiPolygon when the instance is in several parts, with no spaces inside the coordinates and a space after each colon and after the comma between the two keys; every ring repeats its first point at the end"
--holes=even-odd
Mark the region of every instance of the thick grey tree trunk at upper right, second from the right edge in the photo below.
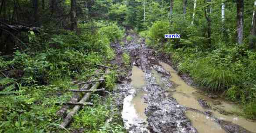
{"type": "Polygon", "coordinates": [[[243,23],[244,23],[244,0],[237,0],[237,33],[238,44],[243,43],[243,23]]]}

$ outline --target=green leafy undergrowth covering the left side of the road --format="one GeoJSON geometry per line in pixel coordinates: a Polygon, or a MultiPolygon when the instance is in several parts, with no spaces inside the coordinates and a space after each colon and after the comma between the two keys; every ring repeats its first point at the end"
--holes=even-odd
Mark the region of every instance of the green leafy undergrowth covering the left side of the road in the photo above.
{"type": "MultiPolygon", "coordinates": [[[[105,65],[112,60],[115,52],[110,42],[123,38],[123,29],[114,23],[93,25],[100,28],[88,30],[92,24],[80,24],[79,35],[71,31],[42,33],[44,36],[30,34],[26,51],[0,57],[0,133],[67,132],[60,130],[62,119],[56,112],[61,106],[57,103],[69,101],[73,93],[68,89],[78,88],[71,85],[73,80],[87,80],[85,75],[94,74],[96,64],[105,65]]],[[[105,86],[111,91],[114,85],[115,72],[112,72],[106,76],[105,86]]],[[[95,117],[107,115],[106,106],[96,107],[101,112],[94,114],[95,117]]],[[[95,124],[102,126],[97,133],[122,130],[109,125],[113,123],[103,125],[103,120],[95,119],[95,124]]]]}

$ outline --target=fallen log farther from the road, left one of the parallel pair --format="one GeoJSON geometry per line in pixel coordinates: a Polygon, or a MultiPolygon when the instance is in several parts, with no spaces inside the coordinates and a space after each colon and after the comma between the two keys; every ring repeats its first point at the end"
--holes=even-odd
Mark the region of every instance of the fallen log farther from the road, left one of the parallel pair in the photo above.
{"type": "MultiPolygon", "coordinates": [[[[99,69],[97,69],[95,71],[95,73],[98,73],[99,72],[99,69]]],[[[89,78],[88,81],[91,81],[93,78],[89,78]]],[[[85,84],[83,85],[83,87],[81,87],[80,89],[87,89],[90,87],[90,84],[85,84]]],[[[78,102],[78,100],[80,99],[80,96],[79,96],[79,93],[76,92],[71,98],[70,98],[70,101],[69,102],[78,102]]],[[[64,116],[64,114],[67,112],[67,110],[70,108],[70,105],[64,105],[61,107],[61,109],[59,109],[57,111],[57,115],[58,116],[64,116]]]]}

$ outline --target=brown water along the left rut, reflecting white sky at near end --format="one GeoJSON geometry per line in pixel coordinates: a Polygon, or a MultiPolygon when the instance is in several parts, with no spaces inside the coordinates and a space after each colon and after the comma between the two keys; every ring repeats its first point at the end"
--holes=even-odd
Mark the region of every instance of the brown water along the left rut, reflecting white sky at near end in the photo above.
{"type": "Polygon", "coordinates": [[[137,66],[133,66],[131,75],[131,85],[133,89],[131,90],[131,95],[124,98],[123,101],[123,111],[122,117],[126,121],[125,127],[129,129],[131,125],[136,125],[141,129],[141,131],[146,131],[147,116],[144,111],[147,108],[147,104],[144,103],[144,92],[141,91],[146,85],[144,81],[144,72],[137,66]]]}

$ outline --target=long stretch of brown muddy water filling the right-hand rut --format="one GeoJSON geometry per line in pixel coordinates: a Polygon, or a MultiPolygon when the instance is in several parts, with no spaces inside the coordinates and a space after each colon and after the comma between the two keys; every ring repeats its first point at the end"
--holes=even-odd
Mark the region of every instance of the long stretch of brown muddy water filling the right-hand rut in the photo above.
{"type": "MultiPolygon", "coordinates": [[[[205,95],[198,93],[197,89],[187,85],[170,65],[163,62],[159,63],[160,65],[162,65],[163,68],[170,72],[170,80],[177,86],[175,88],[176,91],[171,92],[171,95],[177,100],[180,105],[198,109],[200,111],[206,111],[206,109],[203,109],[197,101],[198,98],[202,98],[205,99],[215,110],[224,110],[225,112],[241,111],[240,106],[235,105],[234,103],[226,102],[222,99],[211,99],[205,95]]],[[[216,116],[218,119],[233,122],[251,131],[252,133],[256,133],[256,122],[249,121],[241,116],[235,116],[230,114],[224,115],[218,111],[210,111],[212,111],[213,116],[216,116]]],[[[189,119],[191,119],[192,125],[195,126],[199,133],[226,133],[217,123],[214,123],[213,119],[209,118],[206,115],[192,111],[187,111],[186,115],[189,119]]]]}

